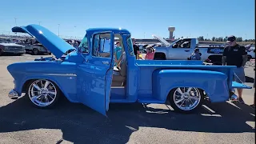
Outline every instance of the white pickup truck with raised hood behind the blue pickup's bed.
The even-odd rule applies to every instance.
[[[186,60],[194,52],[195,48],[200,50],[202,60],[209,58],[212,62],[222,62],[224,45],[199,46],[197,38],[181,38],[171,44],[164,38],[155,36],[162,46],[155,47],[155,60]]]

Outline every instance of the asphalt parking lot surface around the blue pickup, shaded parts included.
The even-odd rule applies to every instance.
[[[110,104],[108,117],[62,98],[51,110],[11,100],[13,78],[6,66],[41,56],[0,56],[0,143],[255,143],[254,89],[246,104],[205,102],[195,114],[177,114],[170,106]],[[46,56],[47,57],[47,56]],[[253,86],[253,67],[246,84]]]

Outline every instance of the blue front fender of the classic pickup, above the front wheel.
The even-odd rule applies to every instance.
[[[77,101],[76,64],[72,62],[18,62],[7,66],[14,78],[14,90],[22,94],[22,88],[31,79],[48,79],[54,82],[71,102]]]

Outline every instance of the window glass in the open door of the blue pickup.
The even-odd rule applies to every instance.
[[[93,42],[93,55],[95,57],[110,58],[110,34],[96,34]]]

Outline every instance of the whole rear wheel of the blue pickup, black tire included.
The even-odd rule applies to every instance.
[[[195,87],[178,87],[170,90],[169,101],[174,111],[190,114],[202,106],[202,90]]]

